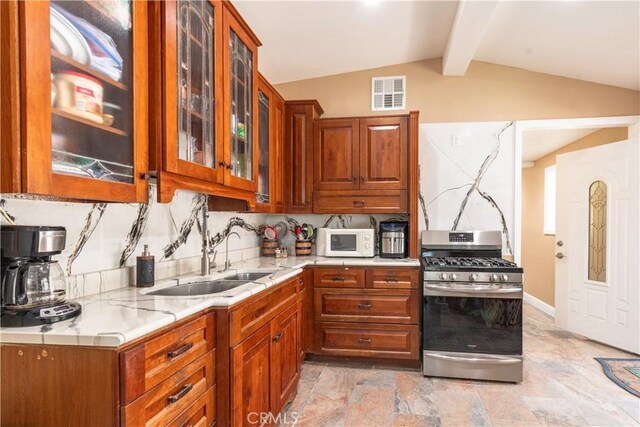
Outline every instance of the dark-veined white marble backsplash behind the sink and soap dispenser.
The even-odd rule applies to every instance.
[[[149,204],[70,203],[32,200],[3,195],[3,209],[23,225],[61,225],[67,229],[65,250],[54,257],[69,278],[72,297],[133,284],[136,255],[144,245],[156,257],[156,279],[198,271],[201,254],[201,216],[204,197],[178,191],[171,203],[155,201],[152,186]],[[229,228],[232,261],[259,256],[260,239],[255,231],[264,214],[210,212],[208,226],[224,263],[222,243]],[[7,221],[3,218],[2,224]],[[86,288],[84,291],[78,288]],[[95,292],[94,292],[95,291]],[[88,293],[87,293],[88,292]]]

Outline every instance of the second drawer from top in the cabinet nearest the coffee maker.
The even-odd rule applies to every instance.
[[[210,351],[122,408],[126,426],[167,425],[215,382],[215,352]]]

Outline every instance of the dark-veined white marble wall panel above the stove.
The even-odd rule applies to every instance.
[[[501,230],[511,255],[513,122],[420,125],[420,230]]]

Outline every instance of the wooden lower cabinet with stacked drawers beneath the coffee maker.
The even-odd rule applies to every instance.
[[[216,328],[205,312],[121,348],[2,344],[1,423],[212,425]]]

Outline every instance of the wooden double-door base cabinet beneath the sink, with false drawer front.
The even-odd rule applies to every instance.
[[[301,286],[295,277],[229,311],[231,425],[262,425],[260,414],[277,416],[295,396]]]

